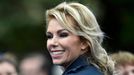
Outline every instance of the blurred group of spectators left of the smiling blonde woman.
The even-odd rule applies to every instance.
[[[15,54],[0,54],[0,75],[60,75],[60,66],[53,65],[41,52],[32,52],[19,59]]]

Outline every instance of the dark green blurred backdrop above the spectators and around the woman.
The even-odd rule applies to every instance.
[[[64,0],[0,0],[0,52],[47,54],[45,11]],[[66,0],[87,5],[105,32],[108,52],[134,53],[134,0]]]

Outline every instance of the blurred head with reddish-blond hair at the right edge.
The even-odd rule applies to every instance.
[[[115,71],[119,75],[134,75],[134,54],[127,51],[120,51],[111,54],[115,61]]]

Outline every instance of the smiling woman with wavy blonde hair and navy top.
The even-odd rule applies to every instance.
[[[110,75],[113,61],[101,46],[103,32],[95,16],[80,3],[63,2],[46,11],[47,48],[63,75]]]

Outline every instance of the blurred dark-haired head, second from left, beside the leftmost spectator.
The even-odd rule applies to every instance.
[[[51,62],[42,53],[29,53],[20,62],[19,70],[21,75],[50,75]]]

